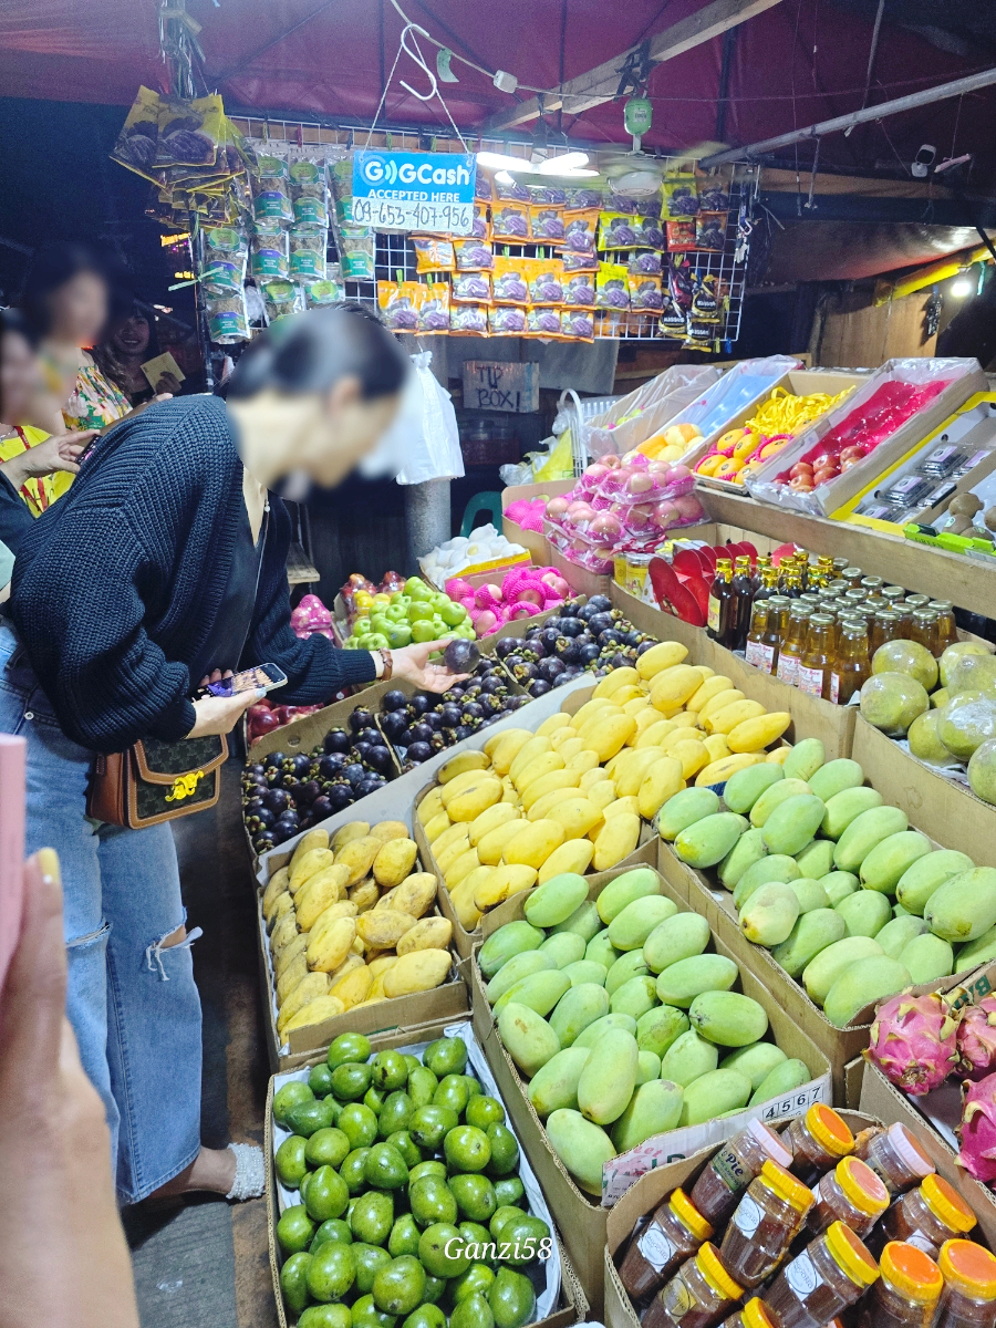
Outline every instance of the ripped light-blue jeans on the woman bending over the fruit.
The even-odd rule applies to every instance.
[[[201,999],[169,825],[125,830],[86,817],[93,753],[58,726],[9,623],[0,619],[0,733],[28,740],[28,853],[58,853],[68,1015],[108,1113],[121,1204],[201,1149]]]

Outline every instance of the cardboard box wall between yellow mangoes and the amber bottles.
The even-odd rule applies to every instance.
[[[795,687],[789,687],[788,683],[781,683],[770,673],[762,673],[740,655],[714,641],[704,627],[692,627],[672,614],[644,604],[619,586],[612,586],[610,598],[633,627],[651,632],[661,641],[681,641],[687,645],[689,663],[706,664],[714,673],[729,677],[733,687],[749,700],[760,701],[766,710],[788,710],[791,714],[791,724],[785,732],[786,742],[819,738],[827,761],[851,754],[857,713],[854,706],[833,705],[818,696],[810,696]]]

